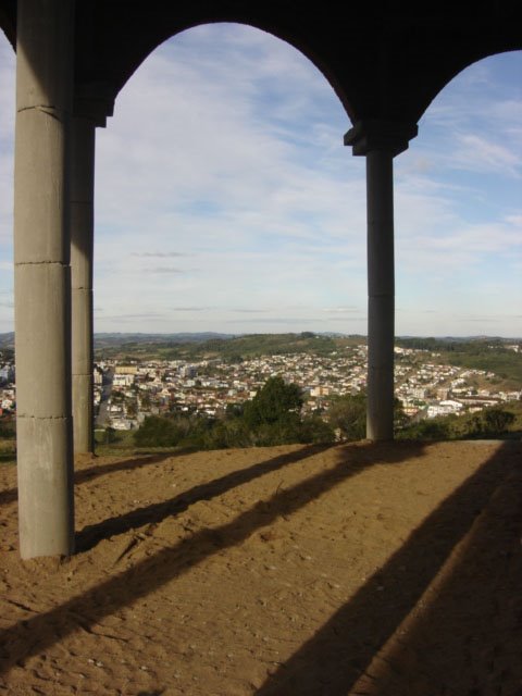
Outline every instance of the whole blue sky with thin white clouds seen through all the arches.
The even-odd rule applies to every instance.
[[[296,49],[159,47],[97,129],[95,331],[366,333],[365,163]],[[0,37],[0,332],[13,330],[14,55]],[[522,51],[432,102],[395,159],[396,333],[522,337]]]

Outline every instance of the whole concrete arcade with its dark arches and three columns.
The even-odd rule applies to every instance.
[[[0,0],[0,26],[18,50],[15,330],[24,558],[73,549],[72,382],[76,448],[92,447],[94,127],[112,113],[119,91],[145,58],[189,27],[238,22],[291,44],[336,91],[353,125],[345,142],[366,158],[368,435],[387,439],[393,437],[394,396],[393,158],[408,147],[419,119],[458,72],[492,53],[522,48],[517,10],[510,0],[477,5],[472,14],[467,8],[449,13],[433,3],[411,9],[374,1],[350,5],[345,18],[331,0],[299,5],[298,12],[295,3],[259,0]]]

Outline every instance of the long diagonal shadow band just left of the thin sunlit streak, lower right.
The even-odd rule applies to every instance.
[[[507,463],[510,452],[513,452],[512,464]],[[351,688],[364,674],[372,658],[415,607],[455,546],[470,530],[502,477],[510,471],[510,467],[512,469],[515,464],[517,452],[520,456],[520,446],[518,449],[510,449],[509,444],[506,444],[446,498],[412,532],[407,543],[388,562],[290,659],[269,676],[257,696],[347,696],[352,693]],[[492,543],[492,539],[488,538],[487,542]],[[482,576],[478,582],[487,585],[488,579]],[[488,616],[483,617],[486,622],[488,619]],[[462,668],[461,663],[460,669]],[[374,679],[368,674],[365,676],[370,682]],[[386,694],[482,694],[469,691],[431,691],[430,684],[427,691],[410,692],[408,685],[408,679],[405,679],[401,688],[397,691],[396,684],[395,691]],[[357,693],[382,696],[385,692],[373,684],[373,691],[366,685],[364,691]]]

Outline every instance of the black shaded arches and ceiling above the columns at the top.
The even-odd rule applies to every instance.
[[[237,22],[288,41],[325,75],[352,123],[415,124],[440,89],[471,63],[522,49],[518,2],[477,2],[473,13],[440,2],[414,9],[381,0],[306,7],[297,0],[77,0],[77,94],[111,112],[117,92],[160,44],[200,24]],[[14,0],[0,25],[15,42]]]

